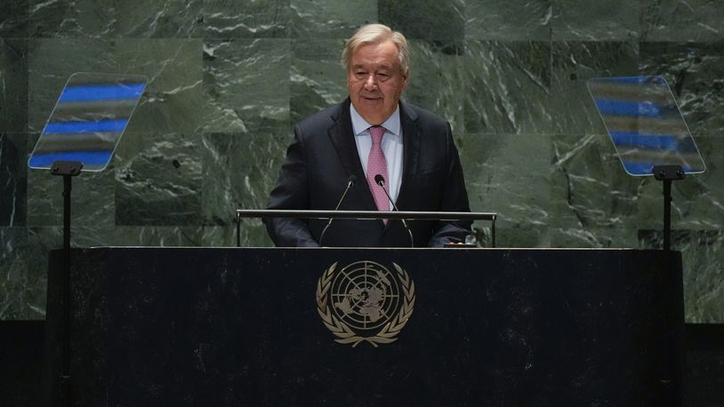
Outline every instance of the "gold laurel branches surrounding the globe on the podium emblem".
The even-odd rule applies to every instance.
[[[402,282],[402,290],[405,292],[405,300],[403,301],[402,307],[400,307],[398,315],[395,315],[390,322],[385,323],[382,330],[377,332],[374,336],[363,337],[359,336],[355,331],[350,329],[346,323],[342,322],[339,318],[332,314],[332,310],[327,303],[327,293],[330,286],[332,285],[332,277],[334,276],[334,269],[337,267],[335,262],[332,266],[326,269],[325,273],[319,277],[317,282],[317,311],[319,316],[322,317],[325,326],[329,331],[334,333],[339,339],[334,339],[336,342],[343,344],[352,344],[352,347],[356,347],[360,342],[366,341],[371,343],[374,347],[378,347],[380,343],[391,343],[397,340],[395,338],[402,328],[405,328],[407,320],[413,315],[414,310],[414,282],[410,280],[410,276],[402,267],[399,267],[397,263],[392,263],[392,266],[398,272],[398,277]]]

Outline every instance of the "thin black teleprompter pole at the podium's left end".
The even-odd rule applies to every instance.
[[[70,191],[71,177],[80,174],[83,163],[76,161],[56,161],[51,166],[52,175],[63,177],[63,334],[60,355],[60,406],[72,405],[70,398]]]

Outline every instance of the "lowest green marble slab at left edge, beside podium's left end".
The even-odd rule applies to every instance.
[[[44,319],[47,247],[26,227],[0,227],[0,320]]]

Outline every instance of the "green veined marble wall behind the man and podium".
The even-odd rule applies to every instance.
[[[74,180],[74,244],[231,246],[294,122],[345,97],[343,40],[380,21],[411,40],[405,98],[450,120],[499,246],[661,244],[661,184],[623,172],[584,82],[665,76],[708,165],[673,186],[687,320],[724,323],[721,20],[719,0],[4,0],[0,319],[44,318],[62,182],[26,162],[71,73],[150,78],[109,169]],[[259,221],[243,240],[270,245]]]

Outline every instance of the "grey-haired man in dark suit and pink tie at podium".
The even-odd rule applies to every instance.
[[[409,83],[405,36],[382,24],[359,28],[342,64],[349,98],[294,128],[269,209],[470,211],[463,169],[446,120],[401,102]],[[379,177],[378,177],[379,180]],[[278,246],[441,247],[463,241],[471,222],[264,219]],[[322,240],[320,242],[320,240]]]

